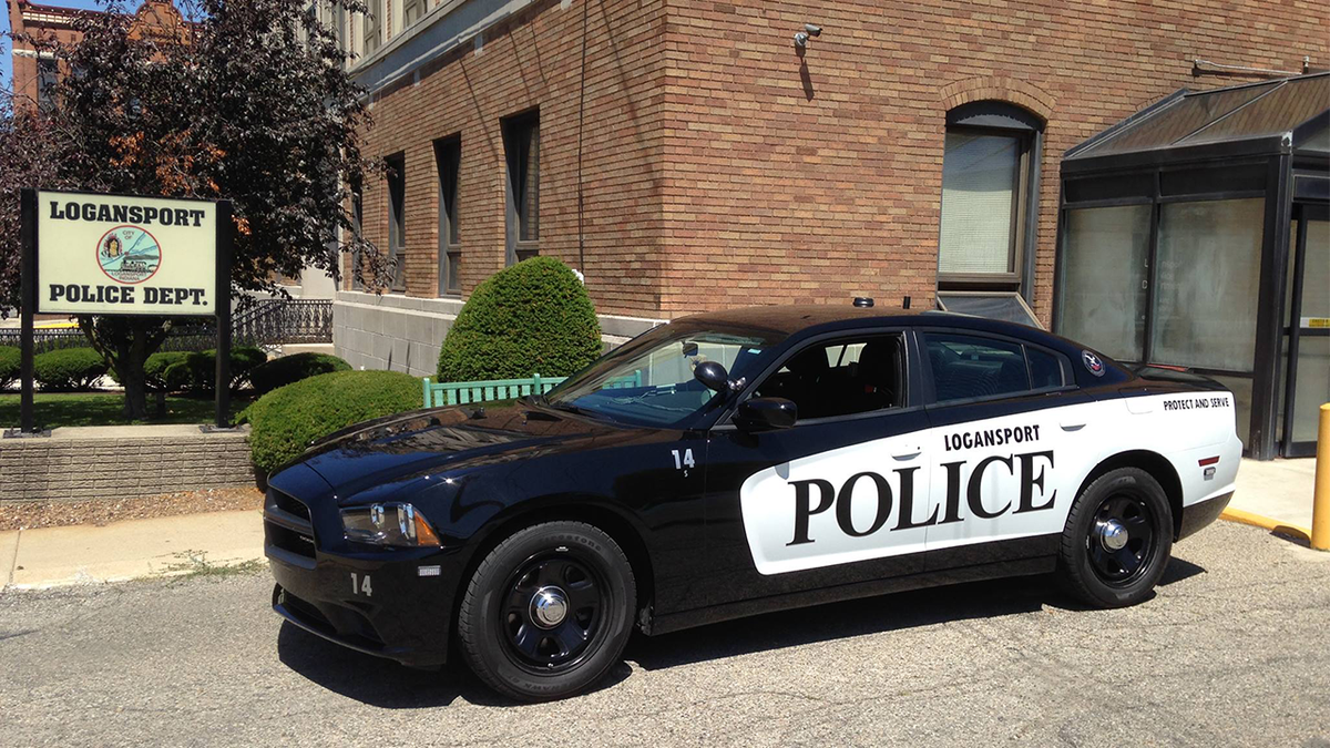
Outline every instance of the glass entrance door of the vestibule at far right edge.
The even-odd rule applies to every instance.
[[[1321,405],[1330,402],[1330,206],[1295,204],[1293,220],[1281,453],[1311,457]]]

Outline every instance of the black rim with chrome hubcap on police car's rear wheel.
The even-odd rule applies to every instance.
[[[1150,566],[1156,535],[1154,512],[1140,496],[1104,499],[1085,538],[1091,568],[1109,587],[1133,584]]]

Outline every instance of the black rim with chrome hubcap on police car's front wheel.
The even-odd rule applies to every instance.
[[[553,675],[585,657],[606,610],[606,584],[595,567],[564,548],[539,554],[517,568],[507,591],[499,623],[517,665]],[[541,610],[541,599],[564,602],[557,622],[551,620],[551,606]]]

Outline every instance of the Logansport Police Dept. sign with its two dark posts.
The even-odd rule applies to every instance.
[[[21,217],[21,433],[36,431],[35,314],[214,317],[215,422],[227,427],[230,202],[24,189]]]

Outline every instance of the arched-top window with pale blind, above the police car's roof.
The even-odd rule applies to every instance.
[[[1003,101],[947,112],[939,290],[1020,293],[1028,286],[1043,128],[1039,117]]]

